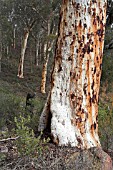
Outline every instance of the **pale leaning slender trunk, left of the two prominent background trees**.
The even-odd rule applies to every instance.
[[[19,66],[18,66],[18,77],[19,78],[24,78],[23,76],[23,66],[24,66],[24,56],[25,56],[25,51],[27,47],[27,41],[29,37],[29,31],[26,31],[24,34],[23,42],[22,42],[22,47],[21,47],[21,56],[20,56],[20,61],[19,61]]]

